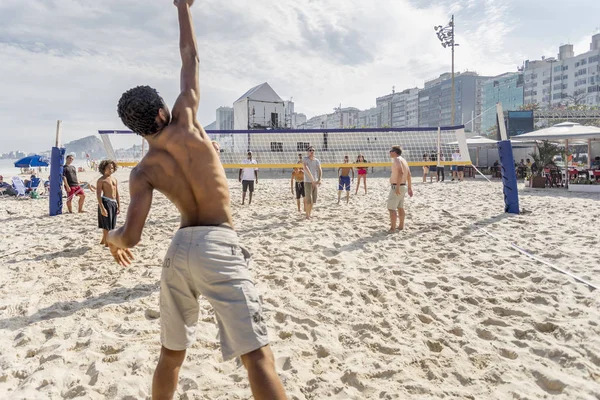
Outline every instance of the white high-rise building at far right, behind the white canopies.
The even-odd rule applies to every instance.
[[[575,56],[572,44],[559,48],[558,58],[525,61],[524,103],[541,108],[600,105],[600,34],[590,50]]]

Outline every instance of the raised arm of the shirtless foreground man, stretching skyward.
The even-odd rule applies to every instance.
[[[179,18],[179,51],[181,53],[181,94],[173,107],[173,118],[191,122],[196,118],[200,102],[198,83],[198,46],[190,6],[194,0],[175,0]]]

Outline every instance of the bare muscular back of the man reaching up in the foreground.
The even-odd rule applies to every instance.
[[[177,207],[181,228],[228,224],[233,227],[229,188],[218,154],[204,129],[173,121],[156,137],[134,168],[130,185],[156,189]]]

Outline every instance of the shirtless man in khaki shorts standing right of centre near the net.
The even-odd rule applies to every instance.
[[[390,193],[388,195],[388,211],[390,212],[391,227],[388,233],[396,231],[396,210],[398,210],[398,230],[404,229],[404,196],[406,193],[412,197],[412,176],[408,163],[401,156],[402,149],[400,146],[393,146],[390,150],[390,158],[392,159],[392,176],[390,177]],[[408,186],[407,186],[408,185]]]

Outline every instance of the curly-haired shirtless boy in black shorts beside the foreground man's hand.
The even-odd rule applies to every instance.
[[[108,247],[106,238],[108,232],[115,229],[117,215],[121,212],[121,200],[119,199],[119,186],[117,179],[112,176],[117,170],[117,163],[113,160],[100,162],[98,171],[102,174],[96,183],[96,197],[98,198],[98,228],[102,229],[102,241]]]

